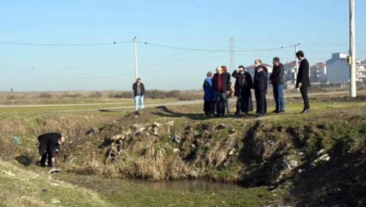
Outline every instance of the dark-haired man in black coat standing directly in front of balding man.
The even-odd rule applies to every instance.
[[[267,93],[268,74],[263,66],[257,67],[257,78],[254,81],[254,92],[257,100],[258,117],[265,115],[265,101]]]

